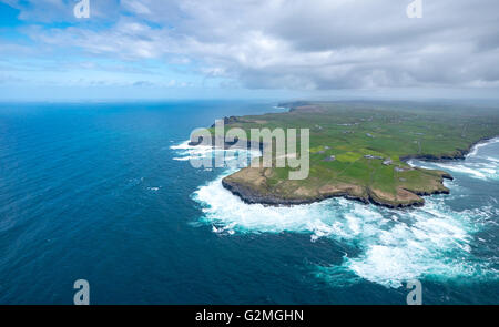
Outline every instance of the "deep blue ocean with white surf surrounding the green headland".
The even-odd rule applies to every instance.
[[[499,304],[499,140],[445,170],[450,195],[394,211],[247,205],[192,130],[265,102],[0,105],[0,304]],[[213,155],[211,152],[201,155]]]

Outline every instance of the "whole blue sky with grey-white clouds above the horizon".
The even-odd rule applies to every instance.
[[[0,0],[0,101],[499,98],[497,0],[88,1]]]

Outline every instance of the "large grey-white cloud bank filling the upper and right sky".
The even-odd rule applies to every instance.
[[[7,3],[33,22],[64,21],[73,6],[62,0]],[[204,78],[227,79],[224,88],[498,86],[497,0],[424,0],[421,19],[407,18],[409,3],[102,0],[91,1],[95,17],[89,22],[68,17],[71,25],[33,24],[24,32],[37,47],[54,51],[73,49],[124,63],[186,64]]]

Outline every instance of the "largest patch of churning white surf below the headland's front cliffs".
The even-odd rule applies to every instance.
[[[469,243],[476,232],[469,222],[477,212],[454,212],[442,200],[429,200],[422,208],[404,213],[344,198],[293,207],[245,204],[225,190],[222,177],[200,187],[194,200],[202,203],[203,221],[234,233],[309,234],[310,241],[332,238],[358,246],[361,254],[345,257],[343,267],[358,277],[399,287],[421,276],[467,277],[485,269],[470,265]],[[483,213],[482,213],[483,214]],[[406,223],[407,219],[410,223]],[[221,232],[222,231],[222,232]]]

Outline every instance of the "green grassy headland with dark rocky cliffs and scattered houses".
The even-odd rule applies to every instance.
[[[462,160],[475,144],[499,135],[493,108],[310,101],[279,106],[289,111],[225,117],[225,127],[309,129],[309,176],[292,181],[289,167],[273,166],[245,167],[223,178],[246,203],[293,205],[344,196],[394,208],[421,206],[424,195],[448,194],[442,182],[452,176],[413,167],[408,160]]]

